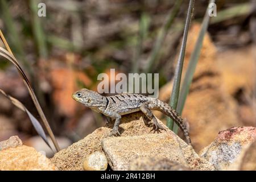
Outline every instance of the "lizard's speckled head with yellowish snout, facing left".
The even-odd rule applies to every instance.
[[[73,93],[72,98],[87,107],[105,106],[106,98],[88,89],[81,89]]]

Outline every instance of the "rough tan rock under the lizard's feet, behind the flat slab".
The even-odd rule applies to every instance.
[[[147,118],[143,113],[137,112],[133,114],[124,115],[119,125],[119,131],[122,137],[127,136],[139,136],[145,134],[153,134],[152,127],[146,126],[144,122]],[[166,129],[162,133],[166,133],[169,129],[163,125],[161,121],[159,123]],[[100,127],[92,134],[89,134],[79,142],[73,143],[68,148],[57,152],[51,161],[60,170],[83,170],[83,162],[85,158],[96,151],[102,151],[101,140],[109,137],[109,133],[113,128],[113,123]],[[186,144],[183,142],[183,146]]]

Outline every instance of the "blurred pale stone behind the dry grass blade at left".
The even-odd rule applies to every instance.
[[[52,148],[55,148],[52,140],[49,137],[47,138],[50,146]],[[60,149],[67,148],[72,144],[71,140],[65,137],[56,137],[56,140],[60,146]],[[54,155],[54,152],[51,150],[51,148],[47,146],[46,142],[44,142],[44,140],[40,136],[31,137],[28,140],[25,140],[24,144],[35,148],[36,151],[44,152],[48,158],[51,158]]]

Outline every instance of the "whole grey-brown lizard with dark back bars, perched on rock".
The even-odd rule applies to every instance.
[[[142,111],[150,120],[148,124],[153,125],[155,130],[165,130],[159,125],[155,115],[151,110],[159,110],[171,119],[180,127],[188,144],[191,144],[191,139],[188,134],[187,125],[179,114],[172,109],[166,102],[156,98],[143,96],[141,94],[117,94],[114,96],[104,97],[101,94],[89,89],[81,89],[72,94],[72,98],[81,104],[89,107],[97,113],[102,113],[110,117],[114,122],[114,127],[110,132],[110,136],[121,135],[118,131],[119,123],[122,115]]]

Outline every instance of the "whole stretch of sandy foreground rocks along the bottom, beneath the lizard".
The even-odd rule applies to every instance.
[[[108,165],[113,170],[256,169],[255,127],[221,131],[197,154],[166,126],[166,131],[154,133],[144,119],[140,112],[126,115],[122,137],[108,137],[113,126],[106,125],[51,159],[11,137],[0,143],[0,170],[106,170]]]

